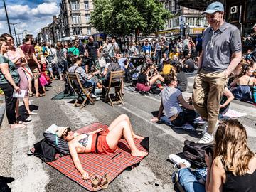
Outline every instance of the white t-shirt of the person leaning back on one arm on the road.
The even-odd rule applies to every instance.
[[[181,91],[174,88],[166,86],[164,90],[161,91],[161,102],[164,106],[164,114],[166,117],[170,118],[180,112],[182,112],[179,106],[178,96],[181,95]]]

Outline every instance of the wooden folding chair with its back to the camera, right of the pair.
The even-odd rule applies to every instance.
[[[110,81],[108,83],[108,86],[105,86],[106,95],[105,95],[105,102],[108,100],[110,101],[110,104],[112,107],[117,104],[124,105],[123,97],[122,97],[122,84],[124,83],[124,71],[118,70],[118,71],[111,71],[110,72]],[[110,96],[110,89],[114,88],[115,90],[115,100],[113,100]]]

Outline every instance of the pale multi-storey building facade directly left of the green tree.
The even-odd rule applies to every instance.
[[[96,33],[90,26],[90,15],[93,11],[92,0],[60,0],[58,16],[58,36],[60,41],[68,41],[78,36],[87,38]]]

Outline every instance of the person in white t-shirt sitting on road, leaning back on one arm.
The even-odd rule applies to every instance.
[[[177,87],[177,78],[173,74],[166,75],[164,78],[166,87],[161,90],[161,104],[159,107],[158,117],[151,119],[151,122],[158,122],[162,112],[177,127],[183,124],[192,124],[196,117],[193,105],[189,105],[183,98],[182,93]],[[180,107],[180,103],[183,108]]]

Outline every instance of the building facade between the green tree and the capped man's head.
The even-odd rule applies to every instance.
[[[156,32],[156,35],[170,38],[178,38],[186,34],[198,36],[207,27],[206,18],[201,15],[201,11],[180,6],[176,0],[161,0],[161,3],[174,16],[166,23],[166,28]]]

